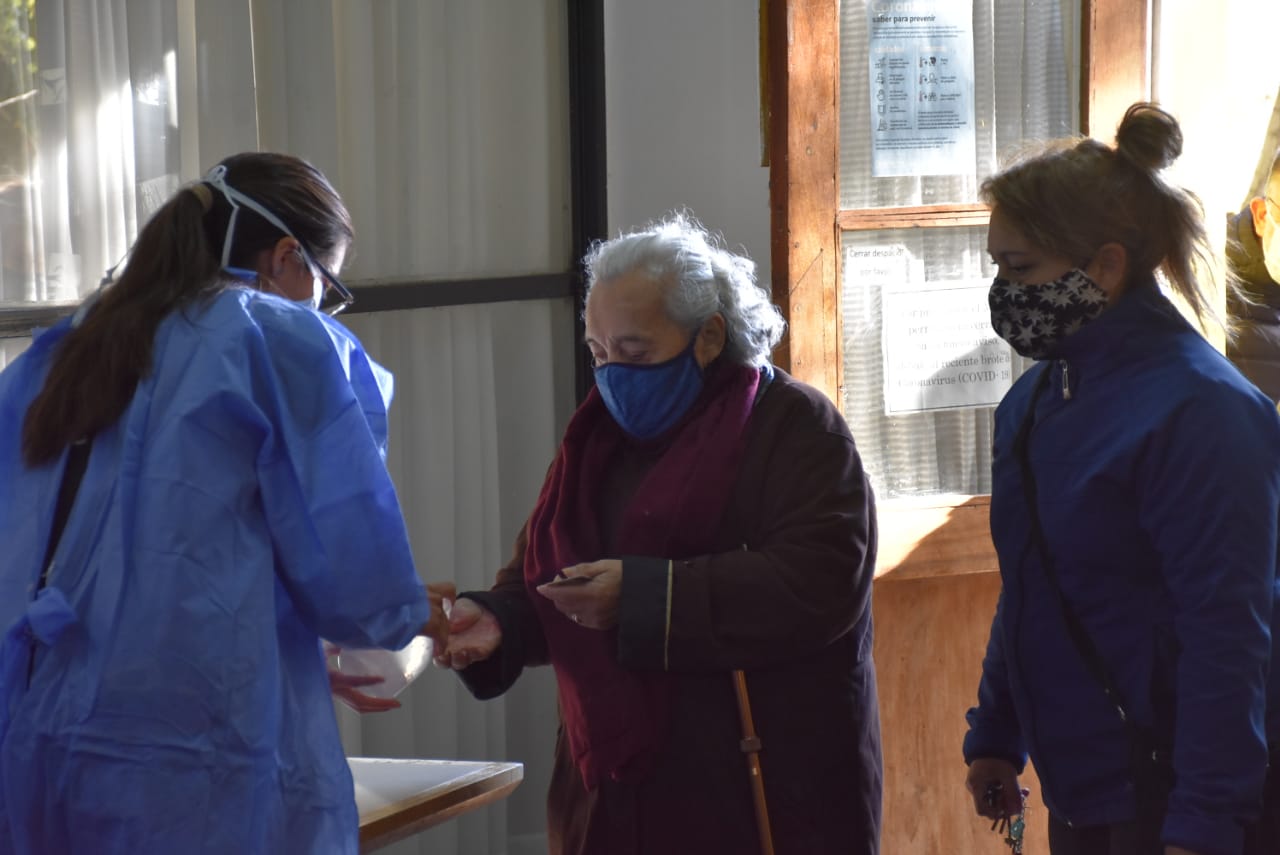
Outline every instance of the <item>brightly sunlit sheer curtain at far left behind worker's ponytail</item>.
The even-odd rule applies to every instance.
[[[202,156],[256,147],[248,0],[210,5],[0,4],[0,320],[78,301]]]

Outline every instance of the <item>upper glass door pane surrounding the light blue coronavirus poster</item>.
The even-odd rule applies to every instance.
[[[960,0],[937,0],[959,3]],[[1076,127],[1064,6],[1079,0],[973,0],[975,163],[960,175],[872,177],[868,0],[840,10],[840,207],[973,204],[997,160],[1024,140]],[[1074,63],[1074,59],[1073,59]]]

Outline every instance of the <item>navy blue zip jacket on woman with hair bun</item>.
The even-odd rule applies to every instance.
[[[1153,283],[1056,356],[996,411],[991,532],[1004,587],[965,759],[1020,768],[1029,754],[1050,811],[1074,826],[1134,818],[1130,736],[1068,637],[1014,451],[1050,371],[1029,459],[1062,589],[1132,713],[1172,741],[1165,842],[1238,855],[1268,736],[1280,736],[1280,704],[1267,715],[1280,417]]]

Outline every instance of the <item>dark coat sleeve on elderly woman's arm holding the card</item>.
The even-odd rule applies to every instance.
[[[786,406],[777,429],[748,444],[758,457],[744,470],[760,480],[735,486],[750,506],[742,544],[680,561],[623,559],[622,664],[718,671],[791,662],[840,639],[870,608],[876,511],[854,440],[826,399]]]

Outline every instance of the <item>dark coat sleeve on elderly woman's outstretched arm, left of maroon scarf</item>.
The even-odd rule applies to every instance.
[[[493,587],[458,595],[492,612],[502,631],[502,644],[492,657],[458,672],[462,685],[480,700],[497,698],[511,689],[526,666],[543,666],[549,660],[543,625],[525,587],[527,531],[526,523],[516,538],[511,562],[498,571]]]

